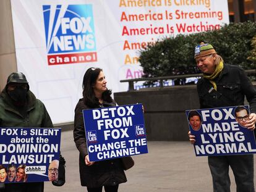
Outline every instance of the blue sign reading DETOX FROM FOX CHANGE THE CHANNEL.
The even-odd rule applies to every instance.
[[[83,110],[90,161],[148,152],[142,104]]]

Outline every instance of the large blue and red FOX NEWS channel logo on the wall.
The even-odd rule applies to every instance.
[[[96,62],[91,4],[43,6],[48,65]]]

